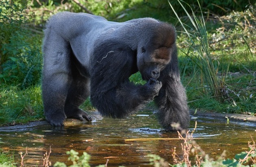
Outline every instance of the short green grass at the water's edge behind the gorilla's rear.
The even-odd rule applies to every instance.
[[[23,124],[43,119],[40,86],[22,90],[19,86],[1,85],[0,125]]]

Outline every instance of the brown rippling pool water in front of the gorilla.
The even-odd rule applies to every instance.
[[[143,115],[142,115],[143,114]],[[207,118],[191,119],[191,129],[197,121],[193,137],[200,137],[197,143],[210,157],[216,158],[226,150],[226,158],[248,149],[251,136],[256,141],[255,124],[225,124]],[[171,150],[177,147],[181,154],[180,140],[124,141],[135,138],[177,138],[177,132],[163,131],[155,115],[144,111],[124,120],[103,118],[88,124],[52,128],[49,125],[33,126],[10,130],[0,129],[0,148],[14,154],[20,163],[18,152],[28,147],[24,162],[27,166],[42,165],[43,154],[52,148],[50,161],[67,163],[66,151],[74,149],[82,154],[91,155],[91,166],[105,164],[108,166],[125,165],[148,166],[148,154],[158,154],[169,163],[172,162]],[[88,141],[88,139],[93,139]],[[87,141],[86,141],[87,140]]]

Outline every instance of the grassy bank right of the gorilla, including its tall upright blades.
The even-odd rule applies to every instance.
[[[236,34],[235,39],[239,37],[237,40],[243,43],[233,42],[229,38],[215,44],[216,41],[209,40],[209,36],[213,36],[215,32],[211,34],[207,31],[200,3],[198,2],[198,16],[192,9],[188,12],[180,0],[178,2],[189,18],[189,22],[184,23],[170,4],[183,28],[183,34],[178,39],[178,43],[185,41],[180,49],[183,55],[180,69],[190,107],[225,113],[256,113],[256,100],[253,97],[256,90],[256,61],[252,54],[255,46],[248,44],[255,37],[249,36],[245,39],[241,28],[234,27],[239,31],[233,31]],[[244,34],[248,32],[250,30],[243,31]],[[230,42],[234,47],[230,51],[218,46],[228,46]],[[188,77],[186,73],[192,77]]]

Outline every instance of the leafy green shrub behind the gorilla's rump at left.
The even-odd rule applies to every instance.
[[[0,1],[0,82],[35,84],[41,71],[41,41],[28,27],[26,0]]]

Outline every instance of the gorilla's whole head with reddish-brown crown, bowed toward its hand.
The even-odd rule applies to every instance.
[[[157,79],[161,71],[171,61],[171,55],[176,47],[175,28],[170,24],[160,22],[145,40],[137,48],[137,67],[142,79]]]

